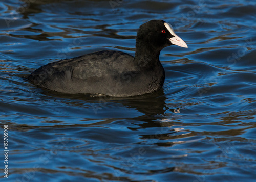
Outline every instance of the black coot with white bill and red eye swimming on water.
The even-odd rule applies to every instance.
[[[159,55],[170,45],[187,47],[172,25],[151,20],[138,30],[135,57],[121,51],[97,51],[41,66],[27,78],[39,87],[71,94],[127,97],[151,93],[163,86],[165,72]]]

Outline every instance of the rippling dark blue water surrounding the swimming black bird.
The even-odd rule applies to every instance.
[[[1,181],[255,181],[255,1],[5,0],[0,15]],[[97,50],[134,55],[151,19],[188,45],[161,51],[159,92],[90,98],[22,79]]]

